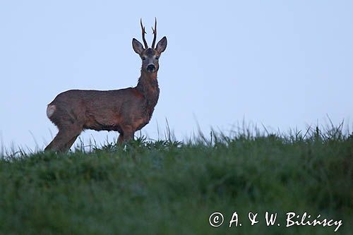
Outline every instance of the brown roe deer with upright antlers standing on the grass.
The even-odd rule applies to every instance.
[[[145,27],[140,20],[145,47],[135,38],[133,50],[142,59],[141,75],[135,88],[120,90],[68,90],[48,104],[47,116],[59,128],[54,140],[45,148],[66,152],[85,129],[118,131],[118,143],[131,140],[151,119],[160,95],[157,83],[158,59],[167,47],[167,37],[155,46],[157,20],[152,47],[145,40]]]

